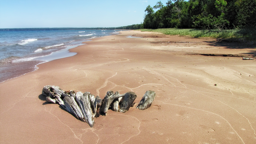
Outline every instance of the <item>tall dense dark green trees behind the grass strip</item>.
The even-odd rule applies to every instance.
[[[256,28],[256,0],[168,0],[145,12],[143,28]]]

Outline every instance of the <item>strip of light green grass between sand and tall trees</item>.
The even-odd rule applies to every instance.
[[[228,30],[203,30],[203,29],[180,29],[180,28],[159,28],[159,29],[138,29],[140,31],[152,31],[166,35],[179,35],[191,37],[212,37],[230,40],[248,40],[256,42],[255,29],[228,29]]]

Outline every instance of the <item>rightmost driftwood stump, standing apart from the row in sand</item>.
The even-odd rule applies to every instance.
[[[154,91],[147,91],[142,99],[140,100],[139,104],[136,108],[139,108],[140,110],[145,110],[149,108],[153,102],[153,100],[156,97],[156,93]]]

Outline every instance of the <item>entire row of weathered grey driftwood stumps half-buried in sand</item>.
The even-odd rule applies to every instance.
[[[60,87],[51,85],[44,86],[42,93],[48,102],[58,103],[77,119],[88,123],[90,127],[94,125],[94,117],[107,115],[109,107],[113,111],[125,113],[133,107],[137,97],[134,92],[119,94],[119,92],[108,91],[102,100],[99,96],[95,98],[90,92],[63,91]],[[155,96],[154,91],[147,91],[137,108],[143,110],[149,108]]]

